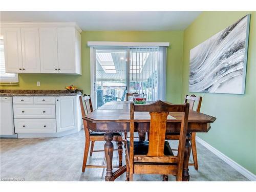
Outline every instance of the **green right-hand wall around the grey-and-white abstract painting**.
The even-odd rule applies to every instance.
[[[250,12],[203,12],[184,31],[182,96],[188,92],[189,51]],[[195,93],[201,112],[217,117],[201,139],[256,174],[256,12],[251,12],[245,95]],[[183,99],[183,97],[182,97]]]

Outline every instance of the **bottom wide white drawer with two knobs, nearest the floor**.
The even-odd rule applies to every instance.
[[[15,133],[55,133],[55,119],[14,119]]]

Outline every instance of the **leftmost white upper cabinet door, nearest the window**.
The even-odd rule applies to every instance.
[[[20,28],[2,28],[6,73],[22,73],[22,40]]]

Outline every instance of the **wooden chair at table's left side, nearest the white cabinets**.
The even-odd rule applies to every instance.
[[[93,111],[93,106],[92,106],[92,101],[90,95],[84,95],[79,97],[80,100],[80,107],[81,107],[81,113],[82,117],[88,115]],[[95,141],[104,141],[104,133],[97,133],[90,131],[87,127],[87,121],[83,120],[83,126],[84,126],[84,133],[86,135],[86,144],[84,146],[84,154],[83,154],[83,163],[82,163],[82,172],[86,170],[86,167],[103,167],[105,168],[106,166],[104,163],[102,165],[87,165],[87,158],[88,158],[88,153],[89,153],[89,147],[90,147],[90,142],[91,142],[91,150],[90,150],[90,156],[92,156],[93,152],[103,152],[104,150],[97,150],[94,151],[94,142]],[[119,156],[119,166],[122,166],[122,135],[120,133],[114,133],[114,139],[113,141],[117,141],[117,151],[118,151],[118,156]],[[103,161],[104,162],[104,161]],[[116,166],[113,166],[116,167]]]

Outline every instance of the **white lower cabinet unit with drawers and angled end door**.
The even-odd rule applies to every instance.
[[[77,111],[79,110],[78,97],[13,97],[15,133],[58,134],[70,130],[79,131],[81,114]]]

